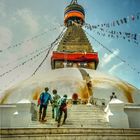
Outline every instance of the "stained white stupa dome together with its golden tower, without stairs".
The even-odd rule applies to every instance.
[[[64,11],[64,25],[67,27],[56,51],[50,58],[51,71],[34,75],[32,78],[7,89],[2,93],[0,103],[17,103],[28,99],[37,100],[40,92],[48,86],[71,98],[77,93],[85,102],[92,96],[107,104],[112,92],[126,103],[139,103],[140,90],[108,74],[98,72],[98,53],[94,51],[82,26],[85,22],[84,8],[72,0]]]

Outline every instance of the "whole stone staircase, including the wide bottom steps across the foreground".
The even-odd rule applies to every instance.
[[[0,130],[1,140],[140,140],[140,129],[114,129],[108,124],[102,107],[88,105],[68,106],[65,125],[57,128],[51,118],[51,106],[47,122],[32,121],[28,128]],[[23,120],[24,121],[24,120]]]

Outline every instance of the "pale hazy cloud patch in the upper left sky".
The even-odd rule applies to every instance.
[[[17,15],[23,20],[23,23],[28,27],[31,33],[37,33],[39,30],[39,24],[32,11],[29,9],[20,9],[17,11]]]

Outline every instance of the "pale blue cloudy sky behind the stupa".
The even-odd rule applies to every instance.
[[[31,77],[45,57],[45,49],[64,28],[64,8],[70,2],[71,0],[0,0],[0,92]],[[110,23],[140,12],[140,0],[78,0],[78,3],[84,7],[85,20],[90,25]],[[140,89],[140,38],[137,45],[126,39],[99,35],[96,29],[83,29],[112,52],[108,52],[87,34],[93,49],[99,55],[97,70]],[[140,20],[110,29],[140,34]],[[118,56],[125,62],[119,60]],[[49,58],[37,73],[48,70]]]

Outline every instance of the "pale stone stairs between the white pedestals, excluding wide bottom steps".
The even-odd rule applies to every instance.
[[[47,110],[47,122],[40,123],[32,121],[29,127],[57,127],[57,122],[52,119],[51,106]],[[62,116],[63,119],[63,116]],[[63,128],[110,128],[109,123],[106,121],[105,113],[102,107],[87,106],[87,105],[70,105],[68,106],[68,117],[66,124],[60,127]]]

